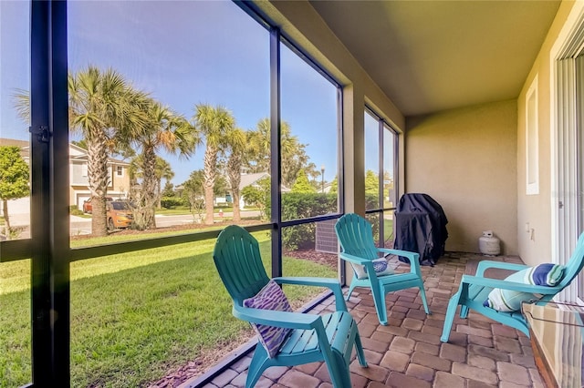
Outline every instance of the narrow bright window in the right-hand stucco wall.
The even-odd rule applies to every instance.
[[[537,76],[526,97],[526,180],[527,195],[539,193],[539,145],[537,129]]]

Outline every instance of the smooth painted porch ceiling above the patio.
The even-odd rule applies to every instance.
[[[516,98],[558,1],[310,1],[404,116]]]

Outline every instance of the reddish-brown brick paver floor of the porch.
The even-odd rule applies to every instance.
[[[350,363],[353,387],[543,387],[537,373],[528,338],[515,329],[493,322],[471,311],[466,320],[456,316],[448,343],[440,342],[446,307],[465,271],[468,260],[491,260],[472,253],[447,252],[435,266],[422,267],[431,315],[423,311],[416,289],[386,296],[389,324],[382,326],[375,313],[370,292],[357,289],[348,301],[349,311],[359,324],[368,368]],[[517,261],[499,256],[495,260]],[[519,260],[520,261],[520,260]],[[409,266],[391,260],[396,271]],[[328,298],[316,308],[334,308]],[[204,386],[244,387],[248,354]],[[293,368],[268,368],[256,387],[325,388],[330,377],[323,362]],[[195,387],[194,381],[183,388]]]

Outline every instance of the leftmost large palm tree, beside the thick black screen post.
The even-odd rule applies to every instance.
[[[107,235],[108,155],[123,139],[136,138],[146,126],[150,98],[115,70],[89,66],[68,77],[69,125],[85,138],[93,216],[92,233]]]

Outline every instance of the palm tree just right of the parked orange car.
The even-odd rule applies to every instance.
[[[137,209],[134,211],[134,220],[139,229],[156,228],[154,216],[160,200],[161,180],[157,174],[156,152],[163,148],[171,153],[178,152],[182,157],[189,157],[199,142],[193,126],[169,107],[163,107],[152,100],[147,115],[145,130],[133,139],[141,147],[141,189],[135,192]]]

